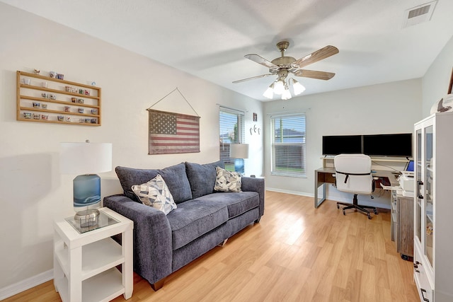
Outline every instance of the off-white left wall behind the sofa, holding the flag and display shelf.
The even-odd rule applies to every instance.
[[[111,142],[113,167],[164,168],[219,159],[217,104],[246,111],[246,129],[263,128],[257,100],[2,3],[0,37],[0,296],[1,289],[52,269],[52,221],[74,214],[76,175],[59,173],[59,142]],[[57,71],[68,81],[96,81],[102,88],[102,126],[16,121],[16,70],[34,68],[44,75]],[[146,109],[176,87],[201,117],[201,151],[149,156]],[[195,115],[177,92],[154,108]],[[251,144],[246,173],[262,175],[263,136],[246,131],[246,143]],[[103,196],[121,192],[114,172],[101,178]]]

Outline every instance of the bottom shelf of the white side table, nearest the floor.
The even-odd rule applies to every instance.
[[[66,277],[55,280],[55,286],[63,302],[69,302],[69,282]],[[122,275],[115,267],[82,282],[82,301],[110,301],[125,293]]]

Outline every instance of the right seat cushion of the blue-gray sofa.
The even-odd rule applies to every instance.
[[[207,204],[222,204],[228,209],[229,219],[256,208],[260,204],[257,192],[219,192],[198,197],[195,200]]]

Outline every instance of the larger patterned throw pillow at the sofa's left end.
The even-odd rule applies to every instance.
[[[165,214],[176,209],[173,196],[160,174],[147,183],[133,185],[132,191],[134,191],[143,204],[163,211]]]

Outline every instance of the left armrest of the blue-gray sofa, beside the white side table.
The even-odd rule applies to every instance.
[[[164,212],[123,194],[105,197],[104,207],[134,221],[134,271],[151,284],[171,274],[171,228]]]

